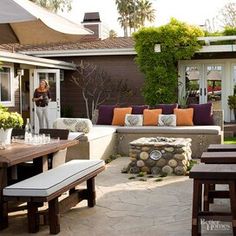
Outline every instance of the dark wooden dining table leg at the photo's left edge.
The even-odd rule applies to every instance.
[[[3,200],[3,189],[7,186],[7,168],[0,167],[0,230],[8,227],[8,203]]]

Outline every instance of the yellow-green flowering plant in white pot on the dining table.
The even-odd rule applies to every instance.
[[[12,129],[20,128],[22,125],[23,119],[19,113],[9,112],[0,105],[0,144],[10,144]]]

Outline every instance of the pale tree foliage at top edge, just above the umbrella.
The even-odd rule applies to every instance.
[[[72,0],[30,0],[30,1],[44,8],[47,8],[48,10],[55,13],[58,11],[64,11],[65,9],[67,9],[67,11],[70,11],[72,2]]]

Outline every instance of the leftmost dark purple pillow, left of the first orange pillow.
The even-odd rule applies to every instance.
[[[115,105],[99,106],[97,125],[111,125],[115,107]]]

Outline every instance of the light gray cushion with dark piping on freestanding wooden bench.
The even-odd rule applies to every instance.
[[[46,197],[103,166],[102,160],[72,160],[7,186],[3,190],[3,195]]]

